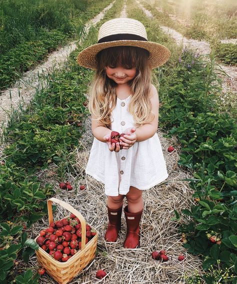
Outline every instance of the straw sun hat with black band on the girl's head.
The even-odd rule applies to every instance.
[[[83,67],[96,69],[95,55],[102,49],[112,46],[137,46],[149,51],[151,68],[164,64],[170,51],[162,44],[148,41],[144,25],[132,18],[113,18],[104,22],[98,31],[98,41],[83,49],[77,55],[77,63]]]

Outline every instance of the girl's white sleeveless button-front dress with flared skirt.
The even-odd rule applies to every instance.
[[[132,115],[127,111],[130,97],[117,97],[112,110],[111,130],[120,134],[135,126]],[[168,177],[157,133],[119,152],[110,151],[106,142],[94,137],[85,173],[104,183],[105,194],[109,196],[125,195],[130,186],[145,190]]]

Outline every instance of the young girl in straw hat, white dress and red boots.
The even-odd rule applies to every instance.
[[[151,69],[164,64],[169,56],[170,51],[148,41],[144,25],[131,18],[103,23],[97,43],[77,56],[78,64],[95,70],[88,104],[94,140],[85,173],[104,183],[105,241],[117,239],[126,196],[125,248],[140,246],[142,190],[168,177],[156,133],[158,94],[151,84]],[[125,133],[116,145],[110,143],[112,131]]]

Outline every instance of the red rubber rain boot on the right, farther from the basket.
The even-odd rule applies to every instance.
[[[124,207],[124,214],[126,219],[126,238],[124,240],[123,246],[125,248],[136,248],[140,247],[140,218],[143,212],[143,208],[135,213],[128,212],[128,206]]]

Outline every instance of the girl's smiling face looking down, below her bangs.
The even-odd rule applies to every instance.
[[[129,80],[133,79],[136,74],[136,67],[131,69],[126,69],[120,64],[115,68],[110,68],[109,66],[105,67],[106,75],[115,81],[117,84],[125,84]]]

